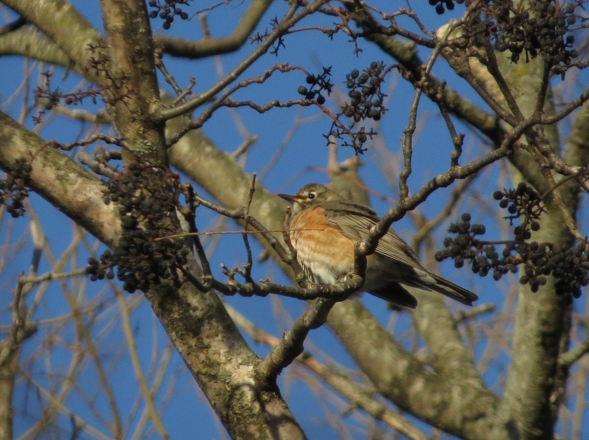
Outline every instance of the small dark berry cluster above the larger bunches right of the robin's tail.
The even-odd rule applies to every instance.
[[[544,212],[540,195],[525,182],[520,182],[517,189],[504,189],[495,191],[493,198],[499,201],[499,208],[507,208],[509,224],[513,225],[515,219],[519,219],[519,225],[515,226],[515,241],[521,242],[531,238],[531,231],[540,229],[540,215]]]

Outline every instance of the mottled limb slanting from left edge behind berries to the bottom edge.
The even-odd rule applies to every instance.
[[[104,186],[100,179],[0,113],[0,168],[10,169],[16,158],[32,156],[32,189],[101,241],[114,246],[120,236],[120,220],[114,204],[102,201]],[[192,264],[196,271],[194,261]],[[166,284],[157,286],[147,296],[199,384],[207,395],[215,396],[211,404],[234,438],[251,438],[246,431],[253,426],[266,426],[278,433],[277,438],[305,438],[276,390],[267,390],[266,382],[256,382],[257,358],[216,295],[203,294],[185,283],[179,290]],[[219,369],[211,367],[213,364]],[[262,391],[253,392],[256,389]],[[241,411],[247,412],[247,417]],[[243,426],[244,420],[251,422],[256,414],[262,425]]]

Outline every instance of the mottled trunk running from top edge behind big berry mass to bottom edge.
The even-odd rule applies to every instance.
[[[127,142],[123,161],[128,165],[137,156],[142,163],[166,168],[164,124],[154,118],[161,104],[146,5],[124,0],[102,0],[101,5],[112,80],[107,104]],[[128,152],[132,156],[125,158]],[[161,186],[157,182],[156,175],[151,184]],[[179,233],[174,214],[169,221]],[[191,256],[184,269],[200,274]],[[256,375],[259,359],[216,295],[198,291],[189,282],[178,289],[168,281],[150,288],[146,296],[232,438],[250,439],[254,433],[262,438],[305,438],[275,384]]]

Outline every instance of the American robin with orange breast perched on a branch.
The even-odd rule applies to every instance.
[[[293,204],[289,238],[307,277],[317,284],[336,284],[352,270],[354,246],[365,240],[369,229],[379,221],[376,212],[321,184],[308,184],[295,195],[279,196]],[[362,290],[415,308],[417,300],[404,286],[439,292],[466,305],[478,299],[472,292],[424,268],[413,249],[389,229],[376,251],[366,257]]]

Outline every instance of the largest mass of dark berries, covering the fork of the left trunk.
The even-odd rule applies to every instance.
[[[107,267],[117,266],[117,278],[127,292],[147,291],[163,279],[178,282],[176,268],[186,264],[188,247],[183,239],[163,238],[176,233],[178,182],[159,168],[131,164],[129,172],[109,183],[105,202],[115,202],[123,233],[113,252],[101,257],[100,265],[89,261],[88,273],[95,279]]]

